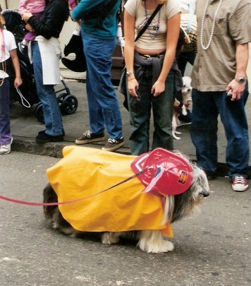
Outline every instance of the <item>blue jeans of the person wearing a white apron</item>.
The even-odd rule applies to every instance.
[[[44,124],[46,133],[51,136],[62,135],[63,122],[59,103],[56,100],[54,85],[44,85],[42,73],[42,61],[37,42],[32,42],[32,61],[35,74],[37,96],[42,102]]]

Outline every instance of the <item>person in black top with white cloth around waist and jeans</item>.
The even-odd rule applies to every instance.
[[[68,0],[49,0],[39,20],[28,12],[22,16],[27,23],[25,28],[37,33],[37,37],[32,41],[32,63],[46,127],[45,130],[39,131],[37,143],[63,141],[63,122],[54,85],[61,83],[59,35],[69,13]]]

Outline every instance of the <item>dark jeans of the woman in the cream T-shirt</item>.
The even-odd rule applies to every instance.
[[[130,112],[130,151],[132,155],[149,152],[149,126],[151,110],[154,119],[152,150],[164,148],[173,150],[172,119],[174,75],[170,71],[166,79],[164,93],[154,97],[152,89],[152,69],[145,71],[140,81],[138,99],[128,93]]]

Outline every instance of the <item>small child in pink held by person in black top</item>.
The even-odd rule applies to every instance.
[[[44,11],[44,7],[45,0],[20,0],[18,12],[21,16],[23,13],[30,12],[32,13],[32,16],[35,16],[35,18],[39,19],[42,15],[42,12]],[[18,43],[19,50],[22,54],[27,52],[27,45],[30,41],[34,40],[36,36],[37,35],[35,32],[27,32],[23,42]]]

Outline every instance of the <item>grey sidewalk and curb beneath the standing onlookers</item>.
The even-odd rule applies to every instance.
[[[66,145],[75,145],[75,139],[82,135],[83,132],[90,130],[88,120],[88,106],[87,106],[87,95],[85,88],[85,73],[74,73],[67,69],[61,68],[61,75],[64,83],[69,88],[71,95],[75,95],[78,99],[78,108],[76,112],[71,115],[63,115],[63,126],[66,133],[63,142],[59,143],[45,143],[38,144],[35,142],[35,137],[38,131],[44,129],[44,124],[39,122],[35,117],[35,108],[37,105],[33,105],[30,108],[23,107],[18,101],[13,102],[11,107],[11,132],[13,134],[13,144],[11,145],[12,150],[32,153],[37,155],[49,155],[52,157],[62,157],[62,149]],[[63,85],[56,85],[57,96],[61,93],[66,93]],[[63,90],[63,91],[62,91]],[[125,139],[125,145],[122,148],[116,150],[117,153],[130,154],[130,145],[128,138],[130,136],[130,121],[128,111],[123,107],[123,95],[118,92],[115,86],[116,95],[121,109],[121,116],[123,121],[123,137]],[[247,100],[246,105],[247,119],[249,125],[251,124],[251,100]],[[153,124],[151,122],[150,133],[153,131]],[[188,155],[191,160],[196,160],[195,148],[190,139],[190,125],[180,126],[177,131],[180,131],[180,140],[174,140],[174,148],[182,151]],[[226,149],[226,138],[224,129],[219,121],[219,133],[218,133],[218,153],[219,153],[219,176],[225,176],[227,172],[226,160],[225,160],[225,149]],[[106,139],[108,136],[106,134]],[[152,138],[150,138],[150,143]],[[102,148],[106,143],[92,143],[84,146],[92,148]],[[251,146],[250,146],[251,149]],[[250,160],[251,162],[251,160]],[[250,164],[251,165],[251,164]]]

